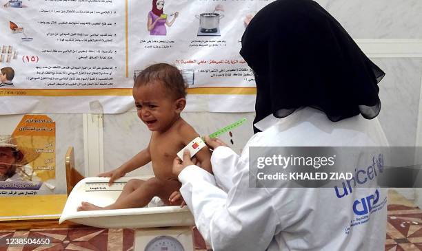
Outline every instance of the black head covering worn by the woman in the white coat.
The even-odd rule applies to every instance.
[[[271,113],[284,118],[299,107],[319,109],[334,122],[379,114],[377,83],[385,73],[315,1],[265,6],[246,28],[240,54],[255,73],[254,123]]]

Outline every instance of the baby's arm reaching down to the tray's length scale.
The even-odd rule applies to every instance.
[[[113,171],[107,173],[101,173],[100,177],[110,177],[110,181],[108,184],[112,184],[114,180],[119,179],[119,177],[124,176],[126,173],[134,171],[134,169],[139,168],[141,166],[145,166],[151,161],[150,156],[150,147],[148,146],[146,149],[143,149],[137,155],[134,155],[132,159],[128,160],[118,168],[114,169]]]

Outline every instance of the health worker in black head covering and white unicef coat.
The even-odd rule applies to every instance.
[[[206,138],[214,149],[214,176],[195,166],[188,152],[173,164],[204,239],[213,250],[384,250],[387,193],[368,169],[379,155],[362,147],[388,145],[375,118],[384,73],[311,0],[279,0],[263,8],[243,34],[241,55],[255,73],[254,127],[261,133],[241,155]],[[259,149],[250,146],[359,146],[336,165],[365,188],[351,180],[349,188],[292,188],[296,181],[290,178],[262,179],[256,174],[269,174],[268,157],[291,149],[261,147],[257,157]],[[267,159],[259,167],[262,157]]]

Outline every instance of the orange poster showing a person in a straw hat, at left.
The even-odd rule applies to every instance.
[[[0,194],[52,193],[56,170],[55,122],[25,115],[11,135],[0,135]]]

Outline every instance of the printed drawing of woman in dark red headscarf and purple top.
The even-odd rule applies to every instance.
[[[172,21],[168,21],[167,14],[163,14],[164,0],[152,0],[152,10],[148,12],[148,31],[153,36],[165,36],[167,30],[165,25],[168,27],[172,26],[179,12],[174,12],[170,16],[174,16]]]

